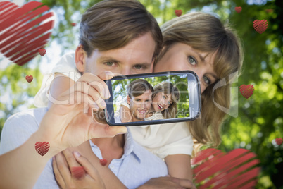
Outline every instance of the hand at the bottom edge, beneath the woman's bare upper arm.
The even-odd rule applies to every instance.
[[[172,189],[172,188],[192,188],[196,189],[188,179],[173,178],[170,176],[151,178],[151,180],[139,186],[138,189]]]

